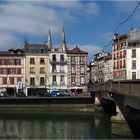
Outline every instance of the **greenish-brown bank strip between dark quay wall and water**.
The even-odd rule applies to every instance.
[[[0,112],[78,112],[78,113],[93,113],[101,109],[99,105],[95,104],[49,104],[49,105],[0,105]]]

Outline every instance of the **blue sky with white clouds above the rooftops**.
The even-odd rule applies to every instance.
[[[23,48],[29,43],[47,41],[51,30],[52,45],[61,45],[62,28],[69,49],[76,45],[88,52],[88,61],[112,39],[118,24],[134,10],[138,1],[94,0],[1,0],[0,51]],[[140,29],[140,6],[133,16],[119,26],[117,33],[127,34],[130,28]]]

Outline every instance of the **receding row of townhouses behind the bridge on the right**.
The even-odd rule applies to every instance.
[[[91,81],[97,84],[140,79],[140,31],[131,28],[128,34],[115,34],[112,55],[104,51],[96,54],[90,67]]]

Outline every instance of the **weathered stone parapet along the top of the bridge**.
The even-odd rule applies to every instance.
[[[94,85],[94,92],[110,92],[140,98],[140,80],[108,81]]]

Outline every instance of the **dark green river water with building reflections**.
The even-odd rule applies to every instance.
[[[0,113],[1,139],[122,139],[104,113]]]

